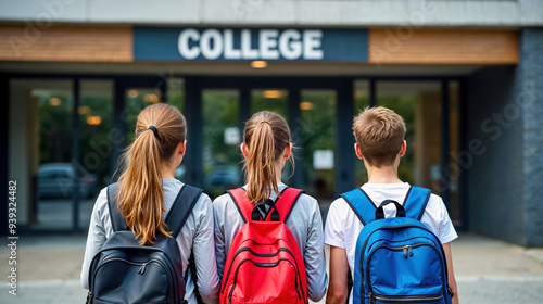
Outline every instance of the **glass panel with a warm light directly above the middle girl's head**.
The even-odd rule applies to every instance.
[[[251,114],[261,111],[272,111],[288,121],[289,92],[279,89],[251,91]]]

